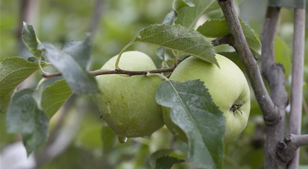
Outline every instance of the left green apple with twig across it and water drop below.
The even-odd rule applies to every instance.
[[[114,70],[117,55],[107,61],[102,70]],[[152,59],[139,51],[127,51],[119,67],[128,71],[156,69]],[[96,76],[100,94],[94,96],[99,111],[110,128],[122,137],[150,136],[163,126],[161,106],[155,94],[162,79],[158,76],[119,74]]]

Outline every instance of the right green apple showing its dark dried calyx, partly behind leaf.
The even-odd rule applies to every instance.
[[[184,82],[200,79],[209,90],[213,101],[225,117],[224,142],[234,140],[246,127],[250,112],[250,91],[241,69],[228,58],[216,54],[220,68],[196,57],[182,61],[170,76],[170,80]],[[234,104],[242,104],[241,112],[231,110]],[[163,118],[169,131],[187,143],[185,133],[171,121],[170,109],[162,107]]]

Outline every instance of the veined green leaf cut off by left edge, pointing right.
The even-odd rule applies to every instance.
[[[44,66],[44,65],[42,65]],[[27,77],[39,69],[37,62],[29,62],[21,57],[9,57],[0,62],[0,112],[5,112],[14,89]]]

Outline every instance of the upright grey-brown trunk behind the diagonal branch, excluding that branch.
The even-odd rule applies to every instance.
[[[277,145],[284,137],[285,109],[287,104],[287,92],[285,86],[285,70],[283,66],[275,62],[274,39],[279,19],[280,8],[268,7],[261,34],[262,43],[262,74],[268,82],[270,97],[278,109],[278,117],[274,118],[275,123],[266,122],[265,140],[265,169],[284,168],[286,162],[276,156]]]

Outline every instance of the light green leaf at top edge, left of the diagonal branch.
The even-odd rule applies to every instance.
[[[177,12],[176,24],[194,28],[202,15],[220,10],[217,0],[190,0],[190,3],[194,4],[194,6],[183,3],[183,0],[174,1],[173,8]]]

